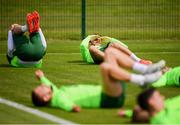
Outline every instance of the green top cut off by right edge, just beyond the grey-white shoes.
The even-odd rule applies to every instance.
[[[152,86],[180,86],[180,66],[166,72],[157,82],[153,83]]]

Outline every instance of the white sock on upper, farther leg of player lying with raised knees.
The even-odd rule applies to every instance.
[[[148,66],[138,62],[135,62],[133,65],[133,70],[142,74],[146,72],[147,68]]]

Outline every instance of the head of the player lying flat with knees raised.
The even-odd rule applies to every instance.
[[[35,106],[45,106],[52,98],[51,87],[41,84],[32,91],[32,102]]]

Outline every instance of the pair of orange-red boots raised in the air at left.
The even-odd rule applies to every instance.
[[[39,30],[39,13],[37,11],[34,11],[33,13],[28,13],[26,20],[29,33],[34,33]]]

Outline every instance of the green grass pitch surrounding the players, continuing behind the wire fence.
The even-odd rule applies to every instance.
[[[168,66],[180,62],[179,0],[86,0],[87,34],[99,33],[118,38],[139,57],[156,62],[165,59]],[[30,93],[39,85],[35,68],[13,68],[7,63],[7,31],[12,23],[24,24],[27,12],[38,10],[47,39],[43,68],[57,86],[102,84],[98,65],[82,62],[81,0],[0,0],[0,97],[34,107]],[[172,53],[162,53],[172,52]],[[163,87],[166,97],[179,94],[179,88]],[[128,84],[124,108],[132,108],[141,88]],[[118,118],[118,109],[82,109],[68,113],[48,107],[38,108],[77,123],[130,123]],[[0,104],[0,124],[50,123],[37,116]]]

